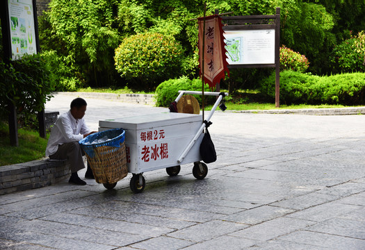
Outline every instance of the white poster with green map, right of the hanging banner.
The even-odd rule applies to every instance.
[[[225,31],[229,65],[275,64],[275,29]]]

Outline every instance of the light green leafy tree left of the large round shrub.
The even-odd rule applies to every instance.
[[[115,0],[53,0],[49,3],[47,21],[49,40],[55,46],[47,49],[65,51],[65,63],[74,67],[86,81],[97,83],[97,76],[110,79],[114,72],[114,49],[120,42],[116,24]],[[106,77],[105,77],[106,76]]]

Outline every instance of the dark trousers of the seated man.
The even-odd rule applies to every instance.
[[[85,164],[83,163],[84,155],[85,153],[81,149],[79,142],[67,142],[58,145],[56,153],[49,156],[49,158],[51,160],[69,160],[71,173],[75,173],[85,168]]]

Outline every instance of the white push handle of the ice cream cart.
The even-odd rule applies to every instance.
[[[184,90],[179,90],[179,97],[177,97],[177,101],[179,101],[180,97],[185,93],[185,94],[202,94],[202,92],[198,92],[198,91],[184,91]],[[211,108],[211,112],[209,113],[208,118],[206,119],[206,122],[209,122],[211,117],[213,116],[214,111],[216,111],[218,104],[220,103],[220,101],[223,98],[223,95],[218,93],[218,92],[204,92],[204,94],[206,93],[210,93],[208,95],[216,95],[218,96],[216,103],[214,103],[213,108]],[[227,96],[228,93],[225,93],[225,95]],[[193,145],[195,144],[195,142],[197,141],[197,138],[199,138],[199,136],[202,134],[203,130],[205,128],[205,123],[203,122],[202,126],[200,126],[199,130],[197,131],[197,133],[195,134],[193,140],[190,141],[190,143],[188,144],[188,147],[186,147],[186,149],[184,149],[184,151],[181,153],[181,156],[179,157],[179,159],[177,159],[177,163],[181,163],[184,158],[186,157],[186,155],[188,154],[188,152],[190,151],[190,149],[193,147]]]

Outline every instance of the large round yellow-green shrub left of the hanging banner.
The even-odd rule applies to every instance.
[[[115,69],[136,83],[135,88],[152,90],[181,72],[181,45],[170,35],[142,33],[125,38],[115,49]]]

